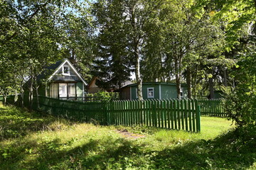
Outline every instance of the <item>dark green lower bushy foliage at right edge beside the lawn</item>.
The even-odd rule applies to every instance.
[[[235,87],[226,91],[226,111],[238,126],[256,124],[255,57],[255,41],[252,40],[240,52],[238,67],[231,73]]]

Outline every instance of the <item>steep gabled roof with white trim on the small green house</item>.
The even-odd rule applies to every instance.
[[[45,71],[43,71],[43,73],[39,74],[37,79],[47,79],[47,75],[50,75],[50,77],[48,78],[48,80],[53,79],[53,76],[60,70],[62,69],[64,64],[68,64],[68,66],[70,67],[70,69],[73,69],[73,72],[75,72],[75,74],[78,76],[78,78],[82,81],[83,84],[87,85],[87,83],[85,82],[84,79],[82,79],[82,77],[80,76],[80,74],[78,73],[78,70],[75,69],[75,67],[73,66],[73,64],[68,60],[68,59],[63,59],[60,60],[58,62],[55,62],[54,64],[50,64],[50,66],[45,68]]]

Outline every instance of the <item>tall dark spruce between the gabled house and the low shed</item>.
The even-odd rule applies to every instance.
[[[120,1],[102,2],[94,5],[97,16],[95,25],[100,32],[95,38],[95,61],[92,74],[102,89],[120,88],[132,71],[132,57],[129,54],[127,28],[124,26],[123,6]]]

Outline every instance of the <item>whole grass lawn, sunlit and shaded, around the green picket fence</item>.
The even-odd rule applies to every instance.
[[[201,133],[104,127],[0,106],[0,169],[256,169],[256,131],[230,124],[202,117]]]

